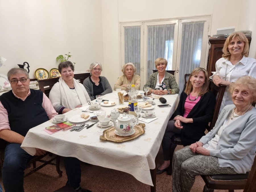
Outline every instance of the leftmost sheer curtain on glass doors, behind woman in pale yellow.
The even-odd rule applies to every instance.
[[[125,63],[133,63],[137,68],[136,75],[140,75],[141,67],[141,26],[124,27]]]

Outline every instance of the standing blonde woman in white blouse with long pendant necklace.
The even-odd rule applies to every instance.
[[[243,75],[256,78],[256,59],[248,57],[248,39],[241,32],[234,32],[228,36],[222,49],[223,54],[216,64],[216,71],[212,72],[214,84],[226,85],[220,112],[224,106],[232,104],[228,86]]]

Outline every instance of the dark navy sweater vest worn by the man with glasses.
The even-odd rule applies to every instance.
[[[42,91],[30,89],[30,95],[22,101],[10,90],[0,96],[0,101],[7,110],[11,131],[20,135],[26,136],[30,128],[49,120],[42,107]]]

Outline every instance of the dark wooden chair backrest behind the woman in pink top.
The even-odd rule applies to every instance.
[[[209,80],[209,90],[212,91],[215,94],[216,104],[215,104],[215,107],[214,107],[212,121],[210,123],[210,127],[209,127],[208,131],[210,131],[215,126],[215,123],[218,119],[218,114],[219,114],[219,111],[220,111],[220,106],[221,106],[221,102],[222,102],[222,99],[223,99],[223,96],[224,96],[225,89],[226,89],[226,85],[220,84],[219,87],[218,87],[214,84],[214,82],[211,79]]]

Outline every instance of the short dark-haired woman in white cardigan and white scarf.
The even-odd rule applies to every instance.
[[[63,114],[91,101],[84,86],[74,79],[74,65],[70,61],[59,64],[61,74],[49,93],[49,99],[57,113]]]

